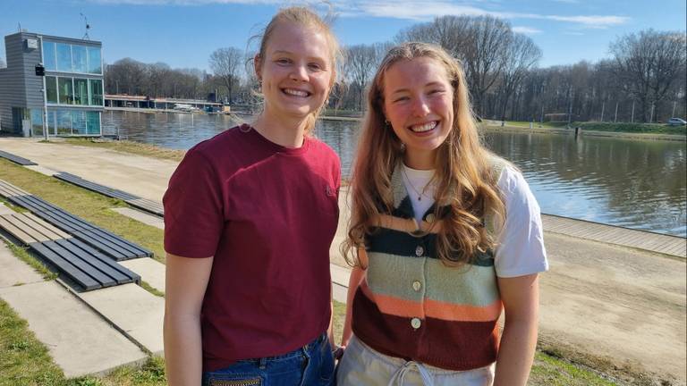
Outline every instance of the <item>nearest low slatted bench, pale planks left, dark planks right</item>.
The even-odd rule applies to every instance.
[[[83,290],[140,283],[140,275],[32,214],[0,215],[3,229]]]

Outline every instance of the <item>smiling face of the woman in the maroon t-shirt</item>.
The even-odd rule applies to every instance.
[[[265,113],[273,119],[304,119],[325,103],[334,80],[327,37],[317,29],[279,22],[264,57],[256,57]]]

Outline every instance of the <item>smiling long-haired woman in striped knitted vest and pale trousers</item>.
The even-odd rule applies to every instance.
[[[461,65],[442,48],[386,55],[350,194],[338,384],[524,385],[548,266],[539,206],[481,145]]]

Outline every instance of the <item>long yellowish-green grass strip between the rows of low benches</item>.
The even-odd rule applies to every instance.
[[[33,172],[4,159],[0,159],[0,179],[148,248],[155,254],[157,261],[165,261],[163,231],[109,210],[115,206],[126,206],[121,200]]]

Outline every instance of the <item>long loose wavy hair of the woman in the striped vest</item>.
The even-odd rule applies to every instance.
[[[442,262],[449,266],[461,265],[470,262],[478,251],[494,248],[495,240],[485,227],[485,215],[505,219],[505,206],[496,187],[496,176],[492,175],[491,160],[496,155],[481,144],[461,64],[439,46],[425,43],[394,46],[379,65],[369,87],[368,111],[352,170],[349,190],[352,215],[342,252],[353,266],[361,266],[358,250],[364,247],[365,238],[380,226],[379,214],[392,211],[391,177],[403,160],[403,143],[385,122],[385,74],[395,63],[417,58],[440,63],[454,88],[454,122],[445,142],[437,148],[435,159],[435,216],[442,221],[437,231],[437,251]]]

